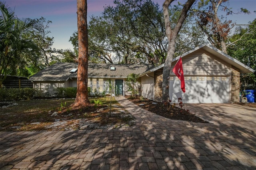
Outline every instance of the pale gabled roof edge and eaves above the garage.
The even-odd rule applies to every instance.
[[[208,51],[209,53],[212,53],[216,57],[226,61],[227,63],[230,63],[234,67],[238,68],[240,70],[240,73],[254,73],[254,70],[247,65],[241,63],[240,61],[234,59],[233,57],[230,57],[228,54],[220,51],[219,49],[213,47],[212,45],[208,43],[204,43],[202,45],[199,45],[198,47],[195,47],[194,49],[191,49],[190,51],[183,53],[182,55],[179,55],[178,57],[174,58],[172,62],[178,60],[180,57],[184,57],[186,55],[189,55],[190,53],[198,50],[198,49],[204,49],[205,51]],[[143,75],[146,75],[147,73],[154,72],[160,68],[164,67],[164,64],[159,65],[158,67],[154,67],[144,73],[142,73],[139,77],[142,77]]]

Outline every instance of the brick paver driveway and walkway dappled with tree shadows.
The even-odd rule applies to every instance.
[[[0,132],[0,169],[255,169],[256,109],[185,105],[210,123],[160,117],[118,101],[138,123],[113,130]]]

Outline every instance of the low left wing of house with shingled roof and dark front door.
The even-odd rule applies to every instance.
[[[49,95],[56,93],[57,87],[77,87],[78,63],[55,63],[32,75],[30,80],[35,89],[44,90]],[[114,81],[118,95],[131,95],[126,85],[131,73],[142,74],[152,68],[146,64],[95,64],[88,63],[88,87],[94,92],[108,94],[108,83]]]

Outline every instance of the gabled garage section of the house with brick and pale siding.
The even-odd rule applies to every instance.
[[[180,79],[170,73],[170,99],[184,103],[233,103],[240,98],[240,73],[254,70],[223,53],[210,44],[202,44],[176,57],[173,69],[182,57],[186,92],[180,89]],[[142,73],[140,83],[142,96],[155,101],[162,100],[162,73],[164,64]]]

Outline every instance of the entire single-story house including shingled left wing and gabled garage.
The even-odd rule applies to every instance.
[[[184,103],[233,103],[240,101],[240,73],[254,70],[210,44],[203,44],[176,57],[172,68],[182,57],[186,92],[180,89],[180,80],[170,73],[170,99]],[[78,63],[56,63],[36,73],[30,79],[36,89],[54,94],[57,87],[76,87]],[[142,96],[162,100],[162,73],[164,64],[88,64],[88,87],[92,91],[108,93],[108,81],[114,81],[119,95],[131,95],[126,85],[130,73],[139,74]]]

